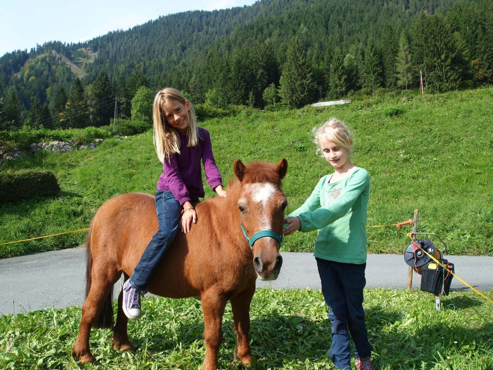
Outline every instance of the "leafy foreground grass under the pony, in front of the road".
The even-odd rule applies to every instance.
[[[492,306],[475,293],[451,293],[440,312],[430,294],[417,290],[374,289],[364,294],[376,369],[493,369]],[[257,290],[250,310],[256,361],[248,369],[335,369],[326,355],[330,347],[326,313],[320,291]],[[71,356],[80,314],[80,307],[70,307],[1,316],[0,368],[80,369]],[[229,304],[222,329],[220,369],[242,369],[233,362]],[[90,345],[98,365],[85,368],[200,369],[203,330],[198,300],[145,298],[142,317],[129,323],[137,351],[113,350],[111,331],[93,330]]]

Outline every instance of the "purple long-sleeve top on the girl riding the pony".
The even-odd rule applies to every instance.
[[[180,154],[174,153],[165,157],[163,173],[157,182],[158,190],[170,190],[176,200],[183,205],[190,201],[191,196],[203,198],[202,166],[204,163],[206,180],[212,189],[222,185],[222,178],[212,154],[211,135],[205,128],[199,127],[199,145],[187,147],[188,138],[178,132],[180,138]]]

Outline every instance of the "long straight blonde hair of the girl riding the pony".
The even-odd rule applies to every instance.
[[[154,104],[152,105],[152,120],[154,122],[153,142],[156,148],[157,157],[164,162],[166,157],[173,153],[180,153],[180,138],[174,127],[172,127],[164,117],[163,106],[166,102],[178,101],[186,105],[187,99],[183,94],[173,87],[166,87],[156,94]],[[188,138],[187,147],[196,147],[199,144],[199,128],[197,118],[192,103],[188,101],[190,109],[188,110],[188,127],[186,136]]]

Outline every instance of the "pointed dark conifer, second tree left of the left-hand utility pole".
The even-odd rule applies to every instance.
[[[65,111],[60,113],[60,122],[63,128],[81,128],[87,126],[87,109],[84,106],[84,90],[78,77],[70,86],[69,100]]]

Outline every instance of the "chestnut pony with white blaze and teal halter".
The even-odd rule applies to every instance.
[[[228,300],[237,334],[235,358],[251,363],[249,309],[255,280],[257,276],[276,279],[282,265],[279,247],[287,201],[281,180],[287,161],[282,159],[277,165],[252,162],[245,167],[238,159],[233,169],[237,180],[228,185],[227,197],[197,204],[198,222],[190,232],[178,232],[147,288],[158,296],[201,296],[204,370],[217,369],[222,316]],[[87,238],[87,297],[72,346],[74,357],[82,364],[95,361],[89,348],[93,326],[112,328],[112,346],[118,350],[134,348],[128,338],[122,292],[113,326],[112,288],[122,273],[125,279],[132,275],[157,228],[154,197],[149,194],[116,196],[94,216]]]

